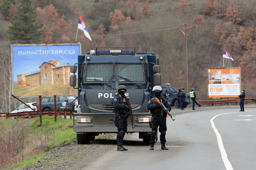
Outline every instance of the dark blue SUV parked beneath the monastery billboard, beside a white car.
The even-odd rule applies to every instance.
[[[74,96],[58,96],[56,97],[56,109],[62,110],[68,104],[70,104],[75,99]],[[77,100],[75,100],[70,106],[68,106],[65,110],[74,110],[75,104]],[[54,97],[42,97],[42,111],[44,110],[54,110]],[[39,102],[37,103],[37,110],[39,111]]]

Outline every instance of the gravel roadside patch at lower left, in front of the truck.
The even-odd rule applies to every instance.
[[[64,144],[63,146],[54,148],[40,158],[37,163],[28,165],[23,168],[23,170],[82,169],[105,152],[116,149],[116,144],[114,141],[107,143],[108,144],[76,144],[76,141],[74,140]]]

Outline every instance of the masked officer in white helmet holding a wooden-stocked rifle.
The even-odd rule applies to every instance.
[[[168,111],[171,111],[171,105],[170,103],[163,97],[161,98],[161,92],[162,92],[162,87],[157,85],[154,86],[153,92],[155,94],[155,97],[160,100],[161,103],[164,104],[166,109]],[[161,107],[160,104],[154,101],[154,98],[150,99],[147,105],[147,108],[150,110],[150,113],[152,114],[152,133],[151,133],[151,138],[150,138],[150,150],[154,150],[154,144],[155,144],[155,139],[156,139],[156,134],[157,134],[157,128],[159,126],[159,132],[160,132],[160,142],[161,142],[161,150],[168,150],[167,147],[165,147],[166,139],[166,116],[167,113],[166,111]]]

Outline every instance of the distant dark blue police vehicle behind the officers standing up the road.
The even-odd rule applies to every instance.
[[[176,90],[174,87],[172,87],[170,83],[166,83],[161,87],[163,89],[163,95],[165,95],[164,93],[166,90],[168,91],[168,93],[169,93],[168,101],[171,104],[171,106],[175,106],[176,108],[179,108],[178,99],[177,99],[177,93],[179,91]],[[191,100],[190,100],[189,93],[185,93],[184,108],[186,108],[188,106],[188,104],[190,104],[190,102],[191,102]]]

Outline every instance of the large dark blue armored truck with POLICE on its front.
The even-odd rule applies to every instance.
[[[147,103],[154,97],[152,88],[161,84],[159,59],[155,53],[135,53],[135,47],[96,47],[78,56],[71,66],[70,85],[78,81],[78,108],[73,114],[73,127],[78,144],[88,144],[95,136],[117,133],[111,104],[119,85],[126,86],[134,118],[128,118],[127,133],[139,133],[145,144],[150,140],[151,114]]]

